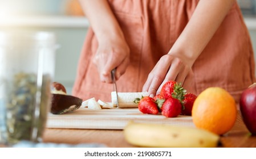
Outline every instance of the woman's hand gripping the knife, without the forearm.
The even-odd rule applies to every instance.
[[[104,35],[98,40],[99,45],[93,58],[94,64],[102,82],[111,83],[111,70],[116,68],[116,80],[124,74],[129,64],[129,47],[126,41],[120,38],[110,38]]]

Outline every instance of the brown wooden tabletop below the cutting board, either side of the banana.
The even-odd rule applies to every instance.
[[[62,129],[62,128],[47,128],[44,134],[44,142],[46,143],[67,143],[67,144],[82,144],[82,143],[99,143],[112,148],[129,148],[135,147],[124,139],[122,130],[108,129]],[[219,147],[256,147],[256,136],[251,136],[245,124],[242,121],[241,115],[238,114],[237,121],[234,127],[221,136]]]

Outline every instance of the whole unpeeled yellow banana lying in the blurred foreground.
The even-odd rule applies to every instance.
[[[220,136],[204,129],[165,124],[129,122],[125,140],[139,147],[217,147]]]

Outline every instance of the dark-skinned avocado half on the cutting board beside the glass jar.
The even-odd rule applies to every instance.
[[[80,108],[83,100],[72,95],[51,94],[51,113],[66,114]]]

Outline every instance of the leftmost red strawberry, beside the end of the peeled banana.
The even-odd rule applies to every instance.
[[[159,110],[155,100],[151,97],[142,97],[139,100],[138,108],[144,114],[158,114]]]

